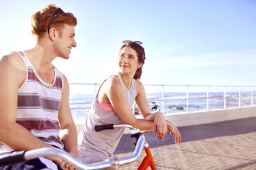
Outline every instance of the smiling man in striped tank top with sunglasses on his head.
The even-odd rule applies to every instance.
[[[56,5],[47,5],[32,16],[31,25],[36,46],[0,60],[0,154],[58,147],[78,158],[69,84],[65,75],[52,65],[56,57],[70,58],[70,49],[76,47],[76,18]],[[74,169],[51,157],[8,168],[45,167]]]

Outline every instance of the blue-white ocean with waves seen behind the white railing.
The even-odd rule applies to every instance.
[[[81,124],[89,112],[94,95],[70,94],[70,108],[76,124]],[[149,103],[155,103],[162,108],[162,93],[147,93]],[[164,93],[164,113],[178,114],[187,112],[186,93]],[[256,103],[256,95],[253,96],[253,104]],[[240,93],[240,106],[247,107],[252,104],[250,91]],[[226,109],[239,107],[239,93],[226,92]],[[224,109],[224,93],[209,93],[209,110]],[[189,93],[189,112],[203,112],[207,110],[206,93]]]

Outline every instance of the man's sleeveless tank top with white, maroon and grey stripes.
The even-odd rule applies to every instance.
[[[19,56],[21,56],[27,70],[25,82],[18,90],[17,123],[45,143],[63,148],[63,143],[59,137],[60,126],[58,124],[63,76],[54,67],[54,82],[47,84],[34,71],[30,60],[23,51],[19,52]],[[1,147],[3,146],[0,145],[0,149]]]

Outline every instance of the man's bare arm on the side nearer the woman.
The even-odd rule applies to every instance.
[[[70,110],[70,87],[67,78],[63,75],[64,87],[61,97],[61,106],[58,112],[58,123],[61,126],[61,141],[64,143],[65,151],[78,158],[77,131]]]

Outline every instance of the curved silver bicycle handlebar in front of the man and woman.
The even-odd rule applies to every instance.
[[[114,127],[129,127],[130,129],[134,129],[134,127],[132,127],[131,125],[113,125],[113,128]],[[112,166],[124,165],[129,162],[133,162],[138,158],[138,156],[140,156],[144,143],[145,136],[141,135],[138,138],[138,142],[136,148],[134,149],[134,154],[132,156],[129,156],[127,158],[109,158],[103,162],[96,162],[93,164],[85,164],[81,160],[78,160],[77,158],[74,158],[74,156],[68,154],[66,151],[52,147],[45,147],[30,151],[17,151],[12,154],[1,156],[0,167],[6,165],[14,165],[19,162],[25,162],[34,158],[39,158],[41,156],[55,156],[61,158],[62,160],[69,163],[73,167],[76,167],[76,169],[105,169],[110,168]]]

